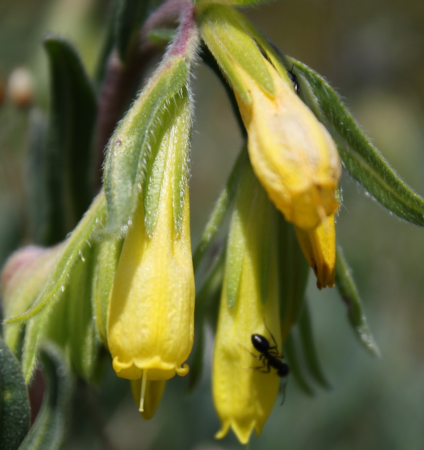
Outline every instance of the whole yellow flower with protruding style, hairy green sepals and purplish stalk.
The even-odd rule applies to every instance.
[[[188,184],[190,68],[197,44],[188,2],[173,42],[115,130],[105,160],[108,230],[128,229],[109,296],[107,343],[117,375],[134,380],[141,412],[146,398],[147,416],[164,387],[153,381],[185,375],[193,345]]]

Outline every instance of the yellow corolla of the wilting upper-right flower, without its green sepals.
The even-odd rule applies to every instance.
[[[335,190],[341,165],[327,129],[300,100],[293,85],[265,60],[274,95],[265,92],[239,65],[234,69],[250,96],[236,91],[248,132],[253,170],[288,222],[310,230],[338,207]]]

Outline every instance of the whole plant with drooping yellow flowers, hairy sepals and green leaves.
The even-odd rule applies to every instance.
[[[424,201],[328,82],[237,9],[251,3],[117,1],[95,80],[66,39],[45,37],[50,116],[28,156],[33,244],[2,271],[2,448],[62,445],[75,392],[95,389],[111,367],[131,385],[140,420],[152,418],[176,375],[196,387],[205,330],[214,336],[216,437],[231,428],[247,443],[289,378],[328,387],[309,276],[338,290],[358,342],[378,355],[336,243],[340,177],[419,226]],[[243,145],[192,247],[200,64],[222,82]]]

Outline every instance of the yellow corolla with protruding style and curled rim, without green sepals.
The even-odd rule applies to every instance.
[[[188,185],[179,185],[184,192],[183,204],[174,204],[175,167],[181,160],[174,131],[174,126],[166,131],[150,176],[159,183],[160,192],[153,231],[146,230],[141,195],[125,237],[108,309],[107,338],[113,367],[123,378],[143,377],[143,386],[148,379],[185,375],[189,368],[182,364],[193,344]],[[178,229],[175,209],[182,210]],[[140,410],[143,399],[142,388]]]

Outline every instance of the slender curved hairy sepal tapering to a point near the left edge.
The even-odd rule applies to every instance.
[[[84,255],[86,247],[95,237],[99,228],[103,226],[105,210],[105,196],[102,190],[63,244],[46,285],[35,303],[27,311],[7,318],[5,323],[25,322],[60,297],[71,279],[76,262],[79,261],[81,255]]]

